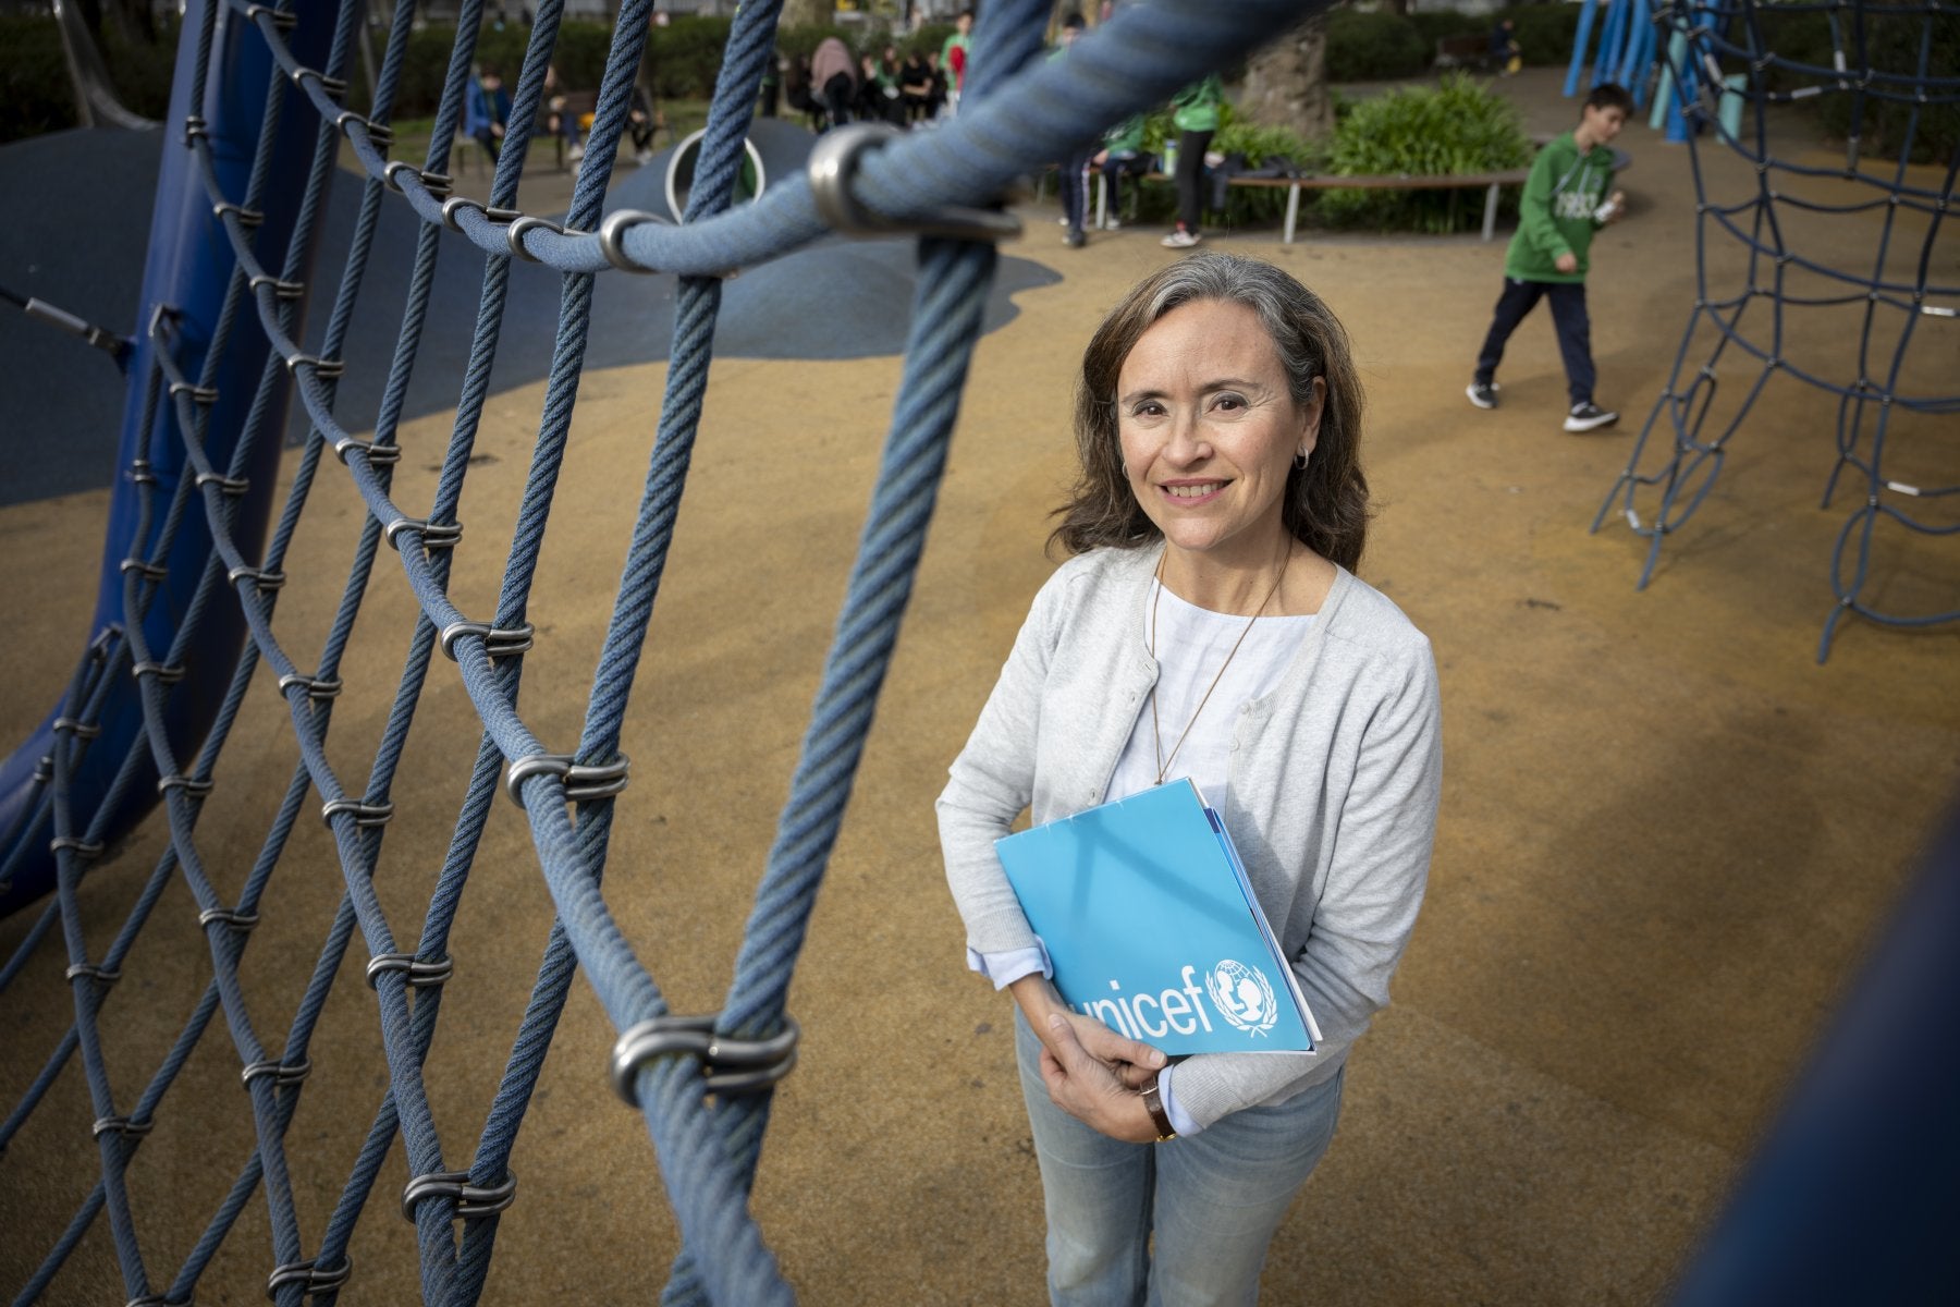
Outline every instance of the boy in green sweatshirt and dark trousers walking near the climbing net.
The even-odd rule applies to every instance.
[[[1633,112],[1623,86],[1601,82],[1580,106],[1580,125],[1564,133],[1531,165],[1531,178],[1517,204],[1517,235],[1503,257],[1503,294],[1492,314],[1490,333],[1464,394],[1478,408],[1497,408],[1497,364],[1503,343],[1539,300],[1552,302],[1558,355],[1566,363],[1572,408],[1566,431],[1593,431],[1619,421],[1619,413],[1593,404],[1592,319],[1586,314],[1586,255],[1593,231],[1617,221],[1627,194],[1613,184],[1613,137]]]

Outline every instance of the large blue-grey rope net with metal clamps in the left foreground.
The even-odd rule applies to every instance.
[[[208,92],[229,90],[208,84],[218,47],[225,39],[249,35],[221,29],[221,16],[225,25],[243,24],[257,31],[276,63],[276,76],[269,78],[249,182],[241,194],[225,194],[220,182],[214,135],[221,131],[221,123],[208,123],[198,112],[171,123],[172,133],[180,133],[180,145],[169,143],[167,149],[190,151],[204,200],[221,223],[235,268],[225,284],[221,312],[208,325],[208,341],[188,339],[182,314],[157,304],[145,339],[137,343],[141,455],[125,468],[127,484],[118,488],[118,494],[133,492],[135,500],[133,545],[122,562],[120,621],[104,625],[80,658],[51,721],[51,749],[33,770],[29,799],[20,805],[0,843],[0,896],[31,888],[39,872],[37,858],[51,862],[53,882],[47,907],[18,950],[0,964],[0,990],[20,976],[59,925],[74,1001],[74,1021],[67,1035],[0,1123],[0,1148],[16,1137],[78,1052],[100,1156],[100,1180],[14,1301],[39,1299],[106,1209],[127,1303],[188,1303],[227,1231],[263,1187],[272,1242],[267,1295],[280,1307],[333,1303],[353,1270],[349,1244],[355,1223],[396,1135],[404,1140],[412,1176],[400,1205],[402,1215],[416,1225],[423,1299],[445,1305],[476,1301],[490,1268],[500,1213],[515,1199],[515,1176],[508,1158],[572,974],[584,968],[619,1031],[608,1068],[612,1086],[645,1117],[680,1229],[682,1248],[662,1301],[788,1303],[794,1295],[762,1242],[747,1209],[747,1195],[772,1086],[796,1062],[798,1029],[784,1001],[790,974],[923,549],[960,388],[982,329],[998,261],[994,241],[1015,229],[1013,219],[992,206],[1019,174],[1100,135],[1103,123],[1162,102],[1178,86],[1249,55],[1315,6],[1294,0],[1243,0],[1231,10],[1217,10],[1203,0],[1127,6],[1119,18],[1076,43],[1064,74],[1039,59],[1047,0],[1000,0],[988,6],[974,35],[974,74],[956,120],[909,137],[829,133],[829,145],[811,159],[808,176],[792,176],[757,202],[729,210],[749,108],[762,69],[774,57],[780,12],[780,0],[743,4],[717,76],[686,225],[633,212],[615,212],[602,221],[606,184],[645,51],[651,0],[627,0],[619,8],[584,167],[564,221],[515,208],[563,0],[543,0],[537,6],[515,80],[506,147],[484,204],[451,198],[445,174],[463,114],[482,0],[465,0],[457,16],[457,41],[423,167],[386,159],[388,114],[414,27],[412,0],[394,10],[368,114],[355,114],[339,102],[347,90],[345,73],[359,39],[363,8],[341,4],[335,12],[331,6],[318,6],[302,14],[292,0],[276,6],[212,0],[192,2],[186,16],[184,39],[196,41],[188,98],[194,110],[206,106]],[[294,55],[296,37],[318,35],[316,24],[327,22],[331,51],[319,69],[308,67]],[[255,247],[255,231],[272,229],[276,223],[267,221],[269,212],[290,202],[290,196],[269,186],[267,176],[282,116],[296,108],[292,96],[300,98],[298,110],[318,114],[319,123],[292,237],[280,259]],[[302,274],[343,137],[367,176],[323,343],[319,353],[308,355],[296,341],[308,294]],[[335,380],[380,206],[390,192],[421,223],[402,331],[372,437],[357,439],[333,413]],[[402,457],[396,429],[431,308],[433,268],[445,227],[486,255],[484,278],[453,435],[429,509],[414,515],[396,506],[388,490],[392,466]],[[729,270],[780,257],[825,231],[917,233],[919,290],[890,435],[835,641],[823,664],[735,974],[717,1013],[684,1017],[666,1009],[659,986],[635,958],[600,892],[613,799],[627,782],[627,758],[617,745],[702,413],[721,280]],[[457,506],[488,396],[514,259],[545,263],[563,272],[559,335],[502,592],[492,617],[472,621],[447,598],[449,560],[463,535]],[[276,274],[267,270],[274,261],[280,266]],[[525,727],[515,702],[523,654],[535,639],[525,621],[525,604],[570,427],[594,274],[655,268],[678,274],[678,294],[674,345],[647,484],[576,750],[553,752]],[[227,351],[245,349],[241,341],[251,327],[269,343],[259,384],[239,429],[218,431],[214,413],[221,411],[218,382],[223,359]],[[184,366],[180,355],[194,355],[198,345],[204,347],[202,363]],[[247,509],[255,502],[247,468],[255,451],[263,459],[265,449],[272,449],[276,459],[288,384],[298,392],[312,429],[298,453],[290,492],[270,525],[270,539],[253,560],[249,555],[257,551],[241,539],[249,535]],[[218,449],[227,437],[229,457]],[[368,513],[331,629],[312,670],[302,670],[280,645],[272,613],[286,578],[286,551],[310,488],[321,466],[331,468],[327,451],[345,466]],[[267,506],[267,513],[269,484],[270,478],[263,478],[257,488],[257,502]],[[176,596],[182,600],[182,615],[174,629],[167,641],[155,641],[147,619],[155,615],[159,594],[171,582],[172,568],[167,560],[174,547],[194,539],[200,529],[208,531],[210,549],[196,555],[196,582]],[[343,688],[341,658],[382,545],[398,555],[419,615],[372,768],[367,782],[349,792],[327,762],[325,733],[335,696]],[[180,562],[176,570],[176,580],[182,582]],[[210,645],[208,629],[227,607],[223,592],[237,605],[249,639],[243,641],[229,678],[221,668],[218,672],[221,698],[210,729],[200,741],[180,747],[172,737],[172,690],[186,670],[202,670],[196,654]],[[482,737],[419,935],[412,948],[404,948],[382,913],[372,878],[394,811],[390,784],[437,651],[457,664],[482,721]],[[276,690],[286,702],[300,760],[237,899],[225,901],[206,870],[196,825],[212,790],[220,750],[261,662],[276,678]],[[139,729],[125,752],[110,754],[110,780],[100,794],[82,794],[78,774],[90,749],[114,747],[104,721],[114,715],[120,696],[133,700]],[[151,776],[167,815],[169,843],[110,944],[92,954],[82,935],[80,882],[90,862],[122,833],[112,829],[114,811],[137,796]],[[449,1160],[437,1137],[421,1062],[435,1037],[443,984],[451,978],[451,923],[500,784],[525,811],[557,919],[482,1133],[470,1160],[459,1166]],[[249,931],[261,919],[261,903],[286,839],[314,790],[321,803],[319,815],[333,833],[345,892],[290,1029],[274,1048],[253,1023],[239,980],[239,958]],[[198,907],[212,978],[169,1054],[131,1103],[127,1088],[118,1093],[110,1084],[98,1017],[137,933],[163,890],[178,876]],[[368,952],[367,984],[374,990],[388,1088],[374,1107],[372,1127],[347,1186],[308,1252],[294,1209],[284,1133],[312,1070],[308,1042],[314,1025],[357,931]],[[237,1180],[182,1266],[174,1274],[153,1276],[139,1248],[125,1168],[151,1131],[171,1084],[218,1017],[237,1052],[255,1144],[241,1158]],[[461,1236],[457,1221],[463,1223]]]

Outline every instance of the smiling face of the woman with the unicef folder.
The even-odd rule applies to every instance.
[[[1327,384],[1298,406],[1258,315],[1198,300],[1158,317],[1117,374],[1131,494],[1170,549],[1219,562],[1274,557],[1294,455],[1311,451]]]

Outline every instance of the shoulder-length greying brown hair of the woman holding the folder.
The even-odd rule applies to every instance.
[[[1200,300],[1252,310],[1286,366],[1294,404],[1313,402],[1313,378],[1327,382],[1319,439],[1305,470],[1286,478],[1282,519],[1307,549],[1352,570],[1368,537],[1368,482],[1360,472],[1360,376],[1347,331],[1311,290],[1290,274],[1243,255],[1180,259],[1137,282],[1090,337],[1076,382],[1080,470],[1051,543],[1072,555],[1113,545],[1135,549],[1158,539],[1131,494],[1117,435],[1115,388],[1123,361],[1164,314]]]

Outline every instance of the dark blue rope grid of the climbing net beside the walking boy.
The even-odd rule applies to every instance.
[[[1833,63],[1821,67],[1791,61],[1774,51],[1770,27],[1776,18],[1797,14],[1823,14],[1831,27]],[[1915,67],[1874,69],[1870,18],[1903,22],[1917,18],[1919,31],[1915,43]],[[1646,562],[1641,570],[1639,588],[1654,576],[1660,562],[1660,547],[1666,537],[1678,531],[1697,508],[1701,508],[1715,478],[1721,472],[1729,439],[1748,417],[1756,396],[1778,372],[1788,372],[1805,386],[1813,386],[1837,396],[1837,460],[1825,480],[1821,508],[1831,508],[1838,488],[1838,478],[1850,472],[1850,480],[1864,490],[1862,502],[1844,519],[1831,551],[1831,590],[1837,604],[1825,617],[1817,643],[1817,660],[1831,654],[1831,643],[1838,623],[1846,613],[1858,613],[1870,621],[1895,627],[1931,627],[1960,619],[1960,607],[1938,613],[1899,615],[1887,613],[1868,600],[1864,590],[1872,572],[1872,551],[1876,529],[1882,521],[1893,521],[1921,535],[1942,537],[1960,533],[1960,523],[1929,521],[1911,506],[1915,502],[1946,500],[1960,494],[1960,484],[1925,486],[1899,480],[1886,472],[1887,433],[1895,410],[1931,415],[1960,413],[1960,392],[1907,394],[1901,392],[1901,372],[1907,351],[1921,349],[1946,351],[1954,357],[1952,321],[1960,315],[1960,282],[1936,280],[1942,274],[1935,259],[1938,239],[1954,210],[1954,178],[1960,172],[1960,147],[1935,165],[1938,182],[1935,186],[1915,182],[1909,159],[1917,141],[1923,114],[1931,108],[1952,108],[1960,104],[1960,74],[1954,69],[1935,69],[1935,45],[1944,24],[1950,31],[1960,24],[1960,12],[1950,4],[1931,0],[1927,4],[1756,4],[1754,0],[1691,2],[1674,0],[1656,8],[1654,22],[1660,27],[1662,59],[1668,61],[1674,86],[1678,88],[1678,108],[1688,118],[1686,141],[1695,178],[1695,304],[1682,341],[1676,349],[1668,382],[1654,400],[1652,410],[1635,439],[1627,468],[1613,482],[1592,529],[1597,531],[1617,508],[1635,535],[1646,537]],[[1670,47],[1670,35],[1676,41]],[[1950,39],[1950,37],[1948,37]],[[1672,49],[1672,55],[1670,55]],[[1850,98],[1850,133],[1840,169],[1809,167],[1778,159],[1770,151],[1768,123],[1764,114],[1754,114],[1754,123],[1742,135],[1735,135],[1721,121],[1721,94],[1725,88],[1725,69],[1746,69],[1748,102],[1789,104],[1815,96]],[[1797,80],[1797,86],[1772,84],[1774,80]],[[1866,112],[1880,104],[1905,106],[1907,120],[1897,145],[1897,161],[1886,161],[1884,170],[1862,167],[1862,135],[1868,123]],[[1709,200],[1707,176],[1703,172],[1699,131],[1705,127],[1729,151],[1735,151],[1754,167],[1754,194],[1735,204],[1715,204]],[[1831,182],[1850,182],[1870,190],[1868,198],[1846,204],[1827,204],[1821,200],[1789,194],[1778,188],[1780,176],[1817,178]],[[1850,270],[1833,266],[1791,247],[1786,239],[1780,206],[1827,216],[1882,214],[1876,249],[1870,270]],[[1927,218],[1925,235],[1913,251],[1911,278],[1887,276],[1887,259],[1895,241],[1909,239],[1899,231],[1901,212]],[[1711,288],[1709,251],[1721,243],[1739,243],[1746,249],[1744,284],[1737,294],[1721,296]],[[1909,247],[1905,247],[1909,249]],[[1827,284],[1842,286],[1835,294],[1793,294],[1788,290],[1791,272],[1823,278]],[[1944,272],[1950,272],[1944,268]],[[1754,339],[1742,327],[1742,317],[1756,302],[1764,302],[1770,312],[1768,343]],[[1791,363],[1784,355],[1786,310],[1815,310],[1864,304],[1856,347],[1856,376],[1850,380],[1819,376]],[[1880,315],[1889,314],[1897,321],[1897,341],[1889,359],[1874,347],[1874,329]],[[1703,327],[1713,329],[1713,345],[1697,364],[1691,349]],[[1935,333],[1929,347],[1923,333]],[[1944,345],[1940,337],[1944,335]],[[1717,382],[1717,364],[1735,347],[1746,361],[1754,361],[1756,374],[1748,380],[1748,390],[1739,408],[1713,435],[1703,433],[1709,417]],[[1950,382],[1952,368],[1944,372]],[[1670,439],[1672,437],[1672,439]],[[1652,445],[1650,445],[1652,441]],[[1656,453],[1658,451],[1658,453]],[[1656,457],[1648,457],[1656,455]],[[1642,459],[1646,470],[1642,470]],[[1646,513],[1641,511],[1639,498],[1652,500]]]

